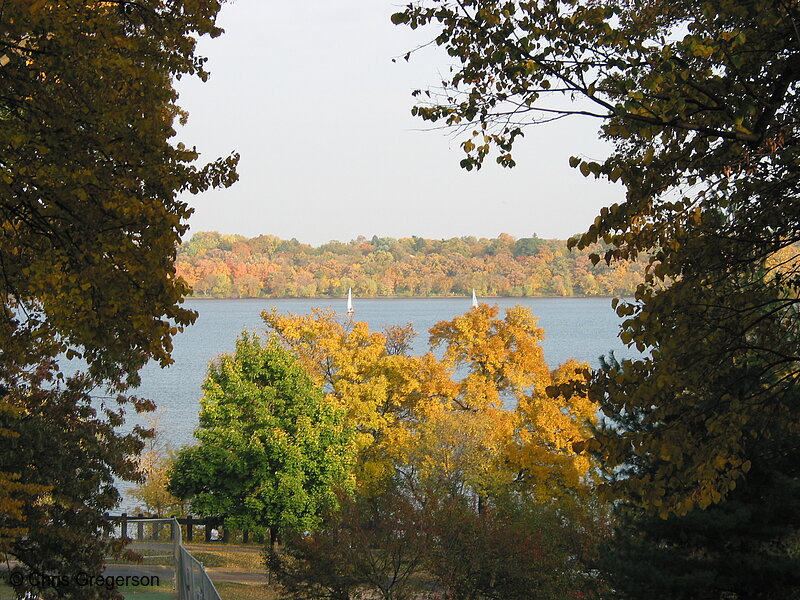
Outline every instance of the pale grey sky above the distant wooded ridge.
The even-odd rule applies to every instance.
[[[599,159],[599,122],[564,119],[526,130],[517,167],[458,166],[459,140],[411,116],[411,91],[439,81],[449,64],[433,37],[389,21],[388,0],[235,0],[226,33],[202,40],[211,79],[178,82],[189,124],[180,139],[202,158],[236,150],[240,180],[184,199],[192,231],[272,233],[320,244],[371,237],[566,238],[620,186],[584,179],[570,155]],[[396,63],[391,59],[397,57]]]

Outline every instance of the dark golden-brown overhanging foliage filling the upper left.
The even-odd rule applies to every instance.
[[[175,252],[191,214],[180,192],[236,179],[173,143],[172,81],[208,77],[194,54],[218,36],[217,0],[3,4],[0,256],[3,361],[71,347],[92,373],[170,362],[194,320]]]

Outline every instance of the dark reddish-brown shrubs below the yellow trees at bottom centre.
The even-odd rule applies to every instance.
[[[465,496],[410,493],[402,480],[380,494],[343,497],[315,531],[267,552],[287,598],[417,598],[437,588],[454,599],[557,600],[589,596],[586,569],[597,537],[556,505],[506,498],[482,512]]]

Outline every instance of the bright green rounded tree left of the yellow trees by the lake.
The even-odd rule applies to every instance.
[[[247,333],[211,365],[203,391],[200,443],[178,454],[170,492],[228,526],[313,529],[351,485],[343,411],[274,339]]]

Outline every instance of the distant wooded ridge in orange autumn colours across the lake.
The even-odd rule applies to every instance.
[[[569,250],[564,240],[416,236],[318,247],[274,235],[198,232],[184,242],[177,274],[196,297],[632,295],[643,262],[592,264],[602,244]]]

